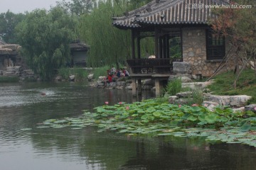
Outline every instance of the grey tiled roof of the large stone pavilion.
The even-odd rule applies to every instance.
[[[151,3],[113,18],[117,28],[139,28],[144,25],[207,24],[215,18],[209,5],[227,5],[228,0],[154,0]]]

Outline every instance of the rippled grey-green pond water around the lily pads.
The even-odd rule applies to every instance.
[[[152,96],[144,91],[142,99]],[[246,145],[208,144],[199,137],[127,137],[94,126],[37,128],[44,120],[76,118],[105,101],[139,99],[131,91],[86,84],[0,84],[0,169],[256,169],[256,149]]]

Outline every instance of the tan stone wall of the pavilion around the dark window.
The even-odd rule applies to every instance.
[[[210,77],[219,67],[221,61],[206,60],[206,28],[183,28],[182,30],[183,62],[191,63],[192,74]],[[226,40],[226,52],[228,52]],[[234,60],[230,60],[221,72],[234,68]]]

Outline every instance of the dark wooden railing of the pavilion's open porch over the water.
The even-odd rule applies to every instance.
[[[171,73],[173,71],[173,62],[182,62],[182,59],[131,59],[127,60],[133,74],[150,73]]]

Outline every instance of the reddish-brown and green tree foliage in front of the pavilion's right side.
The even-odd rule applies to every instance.
[[[232,52],[235,52],[235,73],[238,74],[234,82],[238,80],[242,70],[251,60],[254,60],[256,75],[256,2],[236,0],[231,4],[250,5],[251,8],[225,8],[218,9],[218,18],[212,21],[213,30],[217,34],[223,34],[230,42]],[[239,62],[242,69],[239,70]]]

